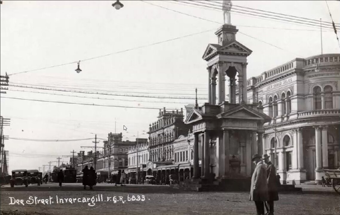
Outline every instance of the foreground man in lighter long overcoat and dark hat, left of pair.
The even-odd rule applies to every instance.
[[[257,215],[264,215],[264,202],[268,200],[267,169],[258,154],[253,155],[252,161],[256,167],[252,176],[249,200],[255,201]]]

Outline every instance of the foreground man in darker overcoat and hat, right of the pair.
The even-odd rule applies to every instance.
[[[276,168],[269,160],[267,154],[262,156],[263,161],[266,163],[267,168],[267,186],[268,186],[268,201],[265,202],[267,214],[274,214],[274,201],[278,200],[277,193],[277,179],[276,179]]]

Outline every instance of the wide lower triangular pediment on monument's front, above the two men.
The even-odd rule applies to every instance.
[[[220,113],[217,115],[217,118],[252,119],[265,122],[270,121],[270,117],[268,115],[249,108],[246,105],[242,105]]]

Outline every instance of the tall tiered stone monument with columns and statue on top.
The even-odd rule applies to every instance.
[[[230,1],[223,1],[231,7]],[[247,104],[246,68],[250,49],[236,40],[238,30],[228,23],[216,32],[218,43],[208,44],[203,59],[207,61],[208,102],[191,110],[185,123],[193,126],[194,168],[192,180],[222,187],[247,190],[254,169],[252,155],[264,154],[263,123],[271,119],[256,103]],[[225,81],[229,79],[229,98],[226,101]],[[218,80],[218,90],[216,90]],[[238,84],[236,85],[236,81]],[[218,91],[218,94],[216,93]],[[216,104],[216,97],[217,104]],[[238,96],[238,97],[236,97]],[[199,150],[198,137],[202,136]],[[199,166],[199,151],[202,165]],[[201,186],[201,188],[202,188]],[[203,188],[202,188],[203,189]],[[226,189],[228,190],[228,189]]]

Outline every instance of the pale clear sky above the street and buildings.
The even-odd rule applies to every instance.
[[[15,138],[5,140],[9,171],[43,170],[49,161],[56,164],[59,156],[66,163],[72,150],[89,151],[81,146],[94,145],[94,139],[17,138],[78,140],[97,134],[98,146],[103,146],[109,132],[122,132],[123,140],[133,141],[137,133],[148,137],[158,109],[194,104],[195,88],[203,98],[199,104],[207,102],[202,56],[209,43],[218,42],[214,32],[223,22],[222,11],[187,4],[203,1],[122,0],[120,10],[112,7],[114,2],[4,0],[1,4],[0,71],[13,74],[12,86],[1,94],[0,103],[1,115],[11,118],[4,135]],[[334,22],[340,23],[336,13],[340,1],[327,3]],[[331,22],[326,1],[235,0],[233,5]],[[321,54],[319,26],[233,11],[231,23],[239,29],[236,40],[253,51],[247,78],[294,58]],[[323,53],[340,53],[332,29],[323,29],[322,41]],[[75,72],[78,61],[80,73]],[[46,67],[51,68],[36,70]],[[60,91],[46,90],[55,87]]]

